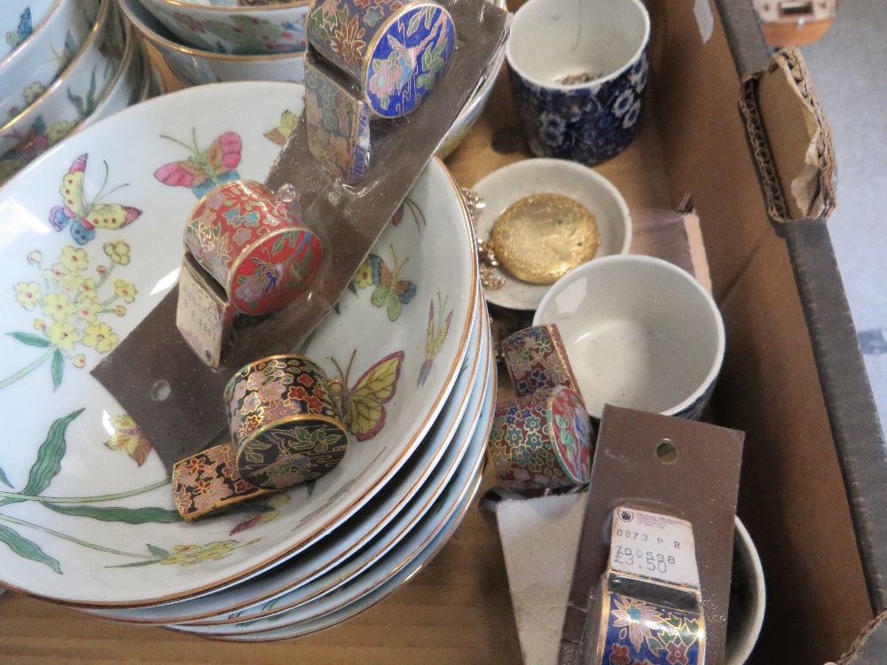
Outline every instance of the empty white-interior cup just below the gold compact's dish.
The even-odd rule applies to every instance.
[[[604,404],[698,418],[724,360],[724,322],[686,270],[652,256],[583,263],[539,303],[556,324],[590,415]]]

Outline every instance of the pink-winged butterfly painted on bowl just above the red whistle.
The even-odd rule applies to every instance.
[[[239,178],[237,167],[242,142],[234,132],[224,132],[206,150],[200,150],[197,144],[197,129],[192,133],[192,145],[162,134],[161,137],[184,145],[191,151],[187,160],[173,161],[154,171],[154,177],[161,183],[170,187],[187,187],[200,199],[218,185]]]

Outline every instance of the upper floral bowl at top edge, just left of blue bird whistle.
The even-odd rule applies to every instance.
[[[243,6],[236,2],[141,0],[180,43],[234,55],[294,53],[308,47],[305,17],[310,0]]]

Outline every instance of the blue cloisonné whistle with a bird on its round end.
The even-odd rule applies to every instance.
[[[370,162],[370,120],[421,105],[446,69],[455,26],[430,0],[315,0],[307,33],[309,150],[334,176],[357,183]]]

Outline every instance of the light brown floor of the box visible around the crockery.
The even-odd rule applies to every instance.
[[[175,89],[176,82],[165,74]],[[688,243],[685,226],[673,213],[654,121],[646,112],[636,141],[598,170],[628,202],[634,251],[663,254],[707,275],[698,230],[690,226],[693,242]],[[517,149],[497,152],[494,138],[497,145]],[[448,166],[460,184],[470,186],[495,168],[525,159],[522,145],[503,72],[481,120]],[[500,398],[506,394],[500,383]],[[488,465],[478,496],[495,483]],[[7,592],[0,596],[0,662],[515,665],[521,653],[498,532],[483,518],[475,498],[455,536],[409,583],[349,622],[316,635],[260,644],[211,642],[99,620]]]

